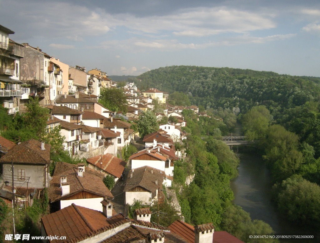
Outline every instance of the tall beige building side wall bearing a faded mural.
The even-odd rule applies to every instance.
[[[24,58],[20,59],[20,79],[44,81],[44,54],[28,45],[24,48]]]

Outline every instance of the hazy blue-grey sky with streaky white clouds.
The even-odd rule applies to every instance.
[[[172,65],[320,77],[318,0],[0,0],[18,43],[69,66],[139,75]]]

